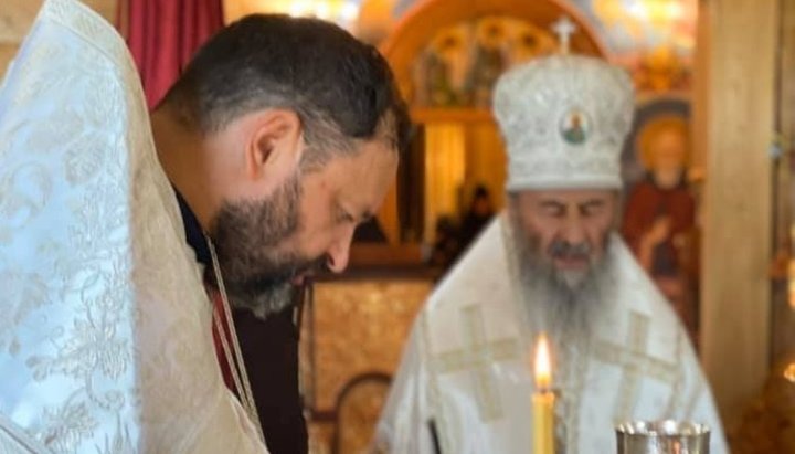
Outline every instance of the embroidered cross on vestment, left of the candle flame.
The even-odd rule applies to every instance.
[[[480,307],[467,306],[462,313],[464,348],[437,356],[434,359],[436,370],[439,373],[470,370],[475,380],[480,420],[495,420],[502,415],[502,405],[490,368],[495,362],[519,358],[519,342],[517,339],[488,342]]]

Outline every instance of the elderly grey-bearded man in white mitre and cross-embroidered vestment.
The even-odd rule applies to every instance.
[[[616,422],[671,418],[708,424],[711,452],[725,453],[688,337],[614,230],[629,77],[598,60],[551,56],[505,74],[494,108],[508,209],[417,316],[377,445],[530,452],[528,353],[545,331],[565,452],[613,453]]]

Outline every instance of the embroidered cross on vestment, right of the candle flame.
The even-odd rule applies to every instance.
[[[621,395],[616,402],[615,416],[627,418],[632,414],[644,376],[674,386],[678,372],[675,363],[662,361],[646,353],[648,347],[649,318],[643,314],[629,314],[629,330],[626,348],[615,344],[600,341],[594,347],[596,359],[623,368],[618,387]]]

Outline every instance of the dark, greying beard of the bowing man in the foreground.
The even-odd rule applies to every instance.
[[[284,250],[300,229],[300,179],[294,175],[266,200],[222,205],[211,237],[233,307],[259,318],[282,312],[294,300],[292,279],[322,262]]]

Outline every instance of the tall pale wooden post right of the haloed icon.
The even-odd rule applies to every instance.
[[[768,370],[775,1],[710,0],[702,352],[724,422]]]

